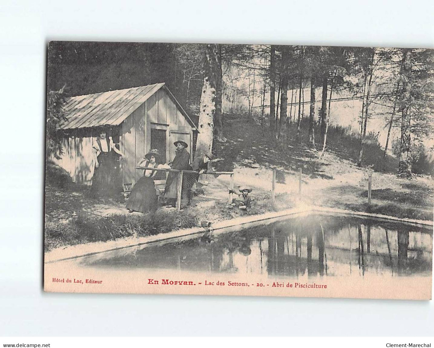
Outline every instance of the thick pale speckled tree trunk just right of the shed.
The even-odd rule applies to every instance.
[[[214,118],[216,112],[215,99],[217,79],[219,76],[219,49],[217,44],[207,44],[204,61],[204,85],[202,87],[199,109],[199,132],[197,135],[195,157],[203,156],[213,148]]]

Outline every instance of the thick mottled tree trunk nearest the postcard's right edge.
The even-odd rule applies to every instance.
[[[398,175],[411,177],[411,49],[404,49],[401,66],[401,142],[399,146]]]

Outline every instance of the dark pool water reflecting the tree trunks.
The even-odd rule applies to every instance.
[[[432,245],[432,232],[421,227],[309,216],[212,239],[103,253],[83,258],[82,264],[270,276],[428,275]]]

